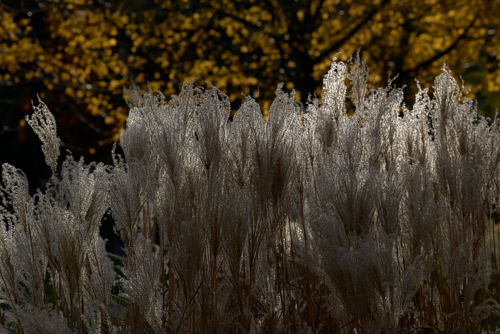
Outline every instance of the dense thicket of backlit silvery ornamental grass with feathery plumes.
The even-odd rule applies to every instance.
[[[250,96],[229,120],[193,82],[169,100],[131,88],[112,166],[58,164],[40,101],[46,189],[2,167],[4,331],[493,331],[500,119],[446,66],[411,110],[367,78],[334,59],[319,100],[302,111],[279,86],[267,120]],[[98,233],[108,211],[121,261]]]

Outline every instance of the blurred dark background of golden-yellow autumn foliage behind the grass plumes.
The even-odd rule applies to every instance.
[[[34,177],[45,168],[24,122],[36,93],[63,146],[108,162],[132,81],[170,95],[199,77],[233,109],[258,92],[265,113],[279,82],[305,103],[332,56],[346,61],[359,48],[370,81],[397,74],[407,96],[414,78],[429,87],[446,61],[491,115],[499,29],[499,2],[480,0],[0,0],[0,162]]]

